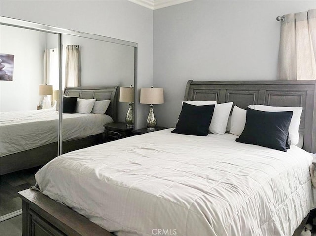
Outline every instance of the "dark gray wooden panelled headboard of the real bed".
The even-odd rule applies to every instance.
[[[316,81],[193,81],[187,83],[184,101],[234,102],[248,105],[303,107],[300,134],[303,149],[316,153]],[[233,105],[233,106],[234,106]]]

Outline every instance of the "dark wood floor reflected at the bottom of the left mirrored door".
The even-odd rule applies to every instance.
[[[35,185],[34,174],[39,169],[31,168],[0,176],[1,216],[21,209],[21,199],[17,192]]]

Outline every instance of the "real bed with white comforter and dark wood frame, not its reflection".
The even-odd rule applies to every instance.
[[[305,150],[173,129],[77,150],[40,169],[42,193],[20,192],[23,235],[299,235],[295,229],[315,207],[315,85],[188,81],[184,101],[302,106],[298,145]]]

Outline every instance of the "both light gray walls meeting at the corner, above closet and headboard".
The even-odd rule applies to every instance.
[[[154,110],[158,125],[171,127],[189,79],[275,80],[276,16],[312,8],[314,0],[205,0],[155,11],[125,0],[2,0],[0,14],[137,42],[138,88],[165,89],[165,103]],[[138,105],[136,128],[145,126],[148,111]]]

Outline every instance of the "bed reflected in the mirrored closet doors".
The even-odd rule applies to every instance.
[[[63,153],[99,144],[103,125],[116,120],[117,86],[66,87],[64,95],[110,99],[106,114],[63,114]],[[56,109],[2,112],[1,175],[46,164],[57,156],[59,112]]]

